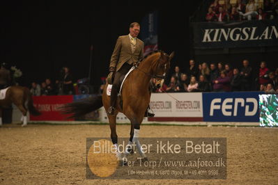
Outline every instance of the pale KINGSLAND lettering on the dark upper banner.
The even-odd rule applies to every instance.
[[[234,29],[205,29],[202,42],[222,42],[238,40],[267,40],[277,39],[278,31],[275,26],[268,26],[263,33],[258,33],[258,27]]]

